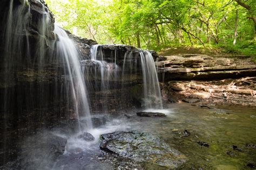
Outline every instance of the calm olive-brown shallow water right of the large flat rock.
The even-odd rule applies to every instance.
[[[189,159],[186,168],[245,169],[247,164],[256,161],[256,148],[246,147],[246,144],[256,143],[255,109],[208,109],[188,104],[171,104],[169,107],[172,109],[167,118],[147,121],[142,126],[184,153]],[[185,129],[190,136],[183,136]],[[200,146],[197,141],[210,146]],[[233,150],[232,145],[241,151]]]

